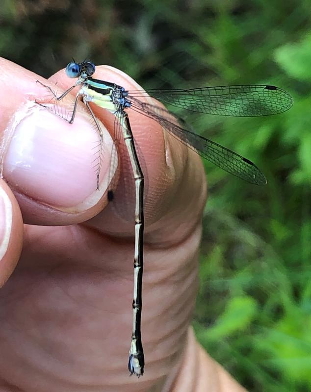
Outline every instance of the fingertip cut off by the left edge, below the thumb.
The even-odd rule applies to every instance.
[[[13,272],[22,250],[23,220],[10,188],[0,180],[0,287]]]

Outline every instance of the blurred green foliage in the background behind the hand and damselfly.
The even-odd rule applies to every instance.
[[[250,391],[310,391],[310,0],[2,0],[0,53],[43,76],[87,57],[149,88],[267,83],[293,95],[278,116],[187,117],[268,179],[256,187],[205,162],[194,326]]]

